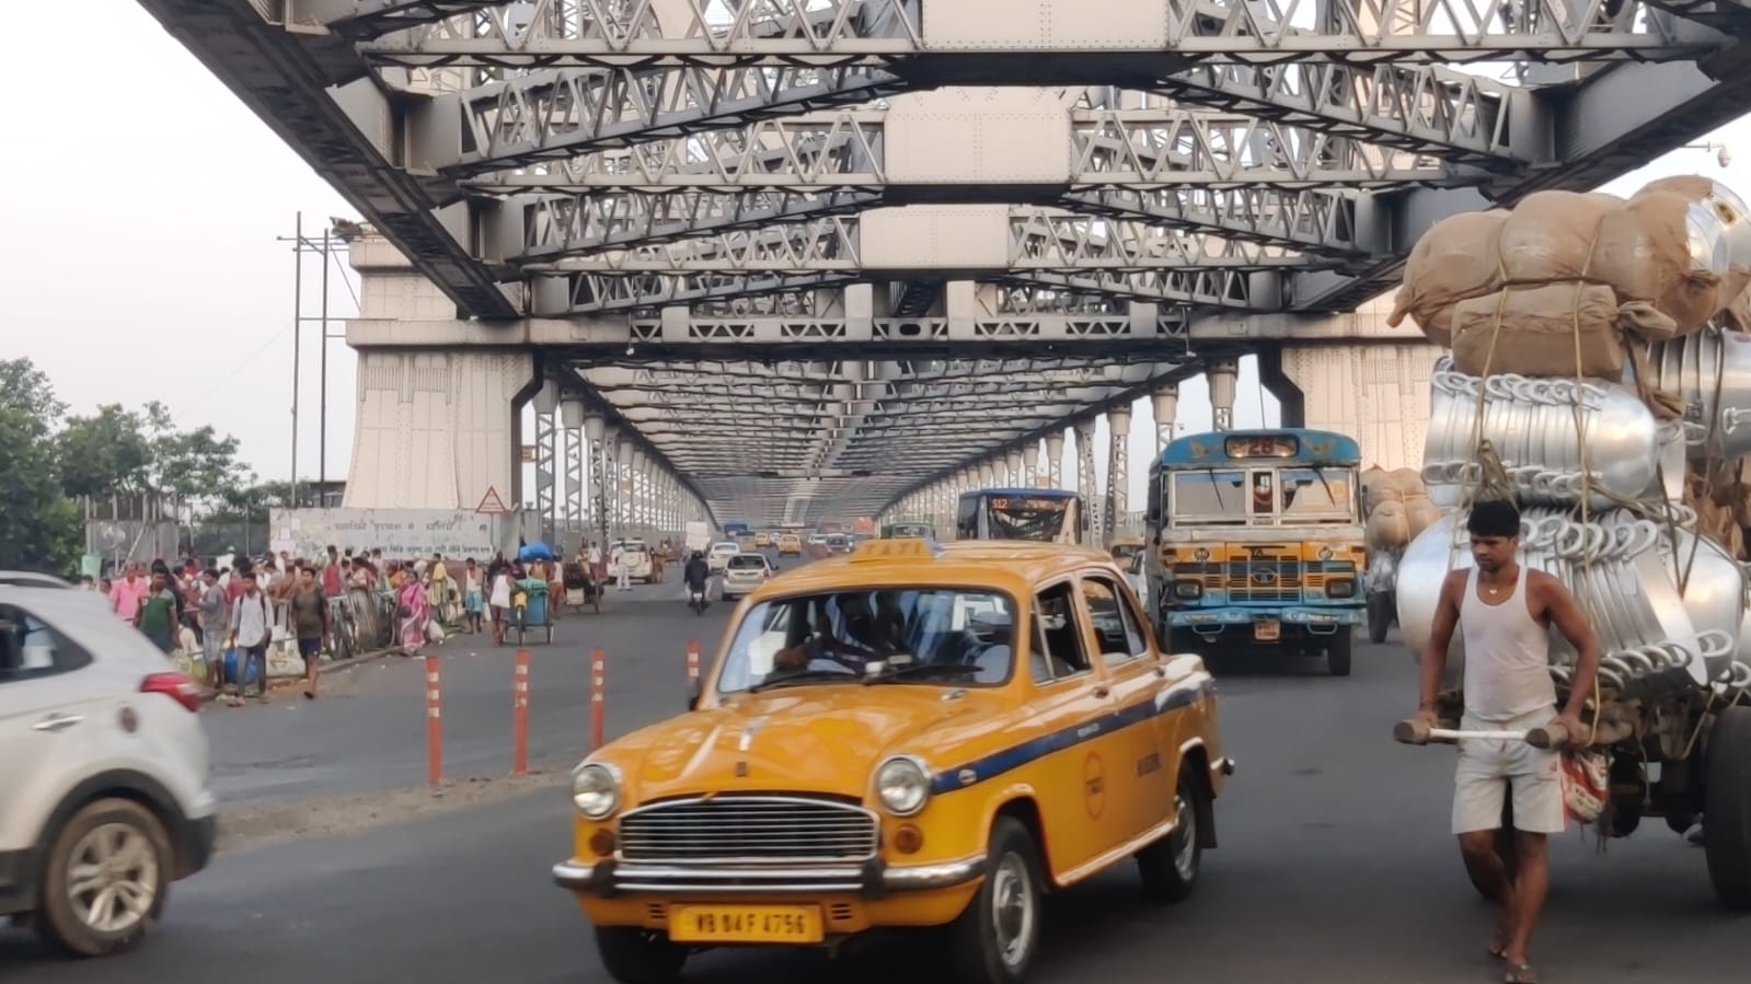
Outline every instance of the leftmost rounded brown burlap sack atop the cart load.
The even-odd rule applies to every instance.
[[[1501,287],[1497,238],[1508,212],[1460,212],[1441,219],[1411,247],[1404,285],[1392,301],[1387,324],[1397,327],[1408,313],[1429,341],[1453,341],[1453,305]]]

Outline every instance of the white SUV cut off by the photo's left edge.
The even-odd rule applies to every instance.
[[[200,707],[102,595],[0,573],[0,916],[79,956],[140,942],[212,858]]]

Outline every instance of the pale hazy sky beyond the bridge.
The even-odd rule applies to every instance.
[[[58,4],[16,4],[12,35],[67,37]],[[23,23],[19,23],[19,19]],[[165,401],[184,425],[214,424],[242,441],[263,476],[291,467],[292,235],[303,210],[320,231],[345,203],[254,114],[131,0],[88,0],[77,18],[79,58],[56,44],[23,46],[0,156],[0,285],[9,305],[0,355],[28,355],[75,413],[100,403]],[[1679,151],[1607,186],[1634,191],[1669,173],[1704,173],[1751,196],[1751,124],[1719,130],[1739,159]],[[306,261],[305,313],[320,275]],[[357,277],[331,270],[331,312],[354,310]],[[345,331],[334,324],[334,334]],[[299,473],[317,473],[319,331],[305,326]],[[329,347],[327,471],[345,478],[352,446],[354,355]],[[1180,420],[1210,424],[1208,390],[1182,387]],[[1243,366],[1236,422],[1275,422]],[[1147,460],[1147,401],[1133,413],[1131,460]],[[1105,459],[1105,436],[1100,438]],[[1105,469],[1105,466],[1101,466]],[[1133,503],[1142,469],[1133,469]],[[531,485],[532,494],[532,485]]]

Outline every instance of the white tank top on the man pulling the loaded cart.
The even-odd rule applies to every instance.
[[[1483,721],[1509,721],[1557,706],[1550,679],[1550,632],[1527,611],[1520,569],[1502,604],[1478,599],[1478,569],[1466,574],[1459,629],[1466,639],[1466,711]]]

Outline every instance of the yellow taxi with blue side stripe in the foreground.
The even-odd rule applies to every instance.
[[[1191,895],[1233,772],[1203,662],[1070,545],[872,539],[774,578],[690,706],[573,770],[553,877],[627,984],[897,926],[1014,984],[1045,893],[1135,858]]]

